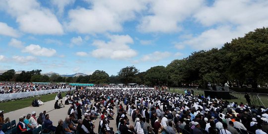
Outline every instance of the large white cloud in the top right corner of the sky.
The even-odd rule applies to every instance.
[[[218,24],[267,26],[267,0],[215,0],[211,6],[203,6],[194,17],[205,26]]]

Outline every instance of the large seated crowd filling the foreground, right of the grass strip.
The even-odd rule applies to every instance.
[[[59,120],[57,127],[49,127],[49,120],[42,122],[41,119],[37,125],[47,122],[47,128],[55,131],[55,134],[268,132],[268,109],[204,97],[200,94],[178,94],[149,88],[83,88],[68,93],[66,98],[65,102],[56,101],[58,106],[59,103],[63,106],[68,105],[66,119]],[[99,122],[95,122],[97,118],[100,118]],[[24,120],[20,119],[20,122],[22,121]],[[115,122],[117,128],[111,128],[111,122]],[[130,122],[134,125],[130,125]],[[32,125],[32,128],[37,126]],[[98,128],[98,132],[94,132],[95,127]],[[29,128],[31,130],[31,126]]]

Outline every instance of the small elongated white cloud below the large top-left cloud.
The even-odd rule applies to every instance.
[[[22,50],[22,52],[30,53],[30,54],[35,55],[35,56],[52,57],[56,54],[57,51],[55,49],[42,48],[39,45],[31,44],[29,46],[26,46]]]

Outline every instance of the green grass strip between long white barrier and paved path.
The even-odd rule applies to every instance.
[[[22,109],[22,108],[31,106],[32,101],[35,98],[37,98],[37,99],[41,98],[41,100],[43,102],[47,102],[47,101],[54,100],[56,95],[57,95],[57,93],[53,93],[53,94],[47,94],[47,95],[41,95],[41,96],[34,96],[34,97],[20,99],[20,100],[1,102],[0,103],[0,110],[4,110],[4,112],[7,113],[10,111]],[[62,96],[66,96],[66,93],[62,93]]]

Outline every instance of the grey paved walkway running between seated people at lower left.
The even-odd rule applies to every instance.
[[[64,101],[65,97],[61,100]],[[59,102],[61,101],[59,100]],[[65,120],[66,117],[68,117],[67,115],[67,111],[70,107],[70,105],[65,105],[64,108],[61,109],[54,109],[54,104],[55,104],[56,100],[52,100],[52,101],[48,101],[45,102],[44,105],[40,106],[40,107],[26,107],[23,109],[19,109],[19,110],[15,110],[9,113],[4,113],[4,117],[9,117],[10,121],[12,120],[16,120],[16,124],[18,123],[18,119],[19,117],[21,117],[22,115],[27,115],[27,114],[31,114],[33,111],[36,112],[36,116],[39,116],[39,113],[43,113],[44,110],[47,111],[47,114],[49,114],[50,120],[53,122],[53,126],[58,126],[58,121],[60,119],[62,119],[63,121]],[[124,105],[124,108],[126,108],[126,105]],[[114,113],[117,113],[117,108],[114,107]],[[117,127],[116,127],[116,116],[117,114],[114,115],[114,119],[115,120],[110,120],[110,127],[114,129],[114,132],[117,132]],[[134,125],[131,117],[129,115],[127,115],[128,118],[130,119],[130,125]],[[82,119],[84,119],[84,117],[82,117]],[[95,129],[94,132],[98,133],[98,126],[99,126],[99,121],[100,119],[97,119],[95,121]]]

